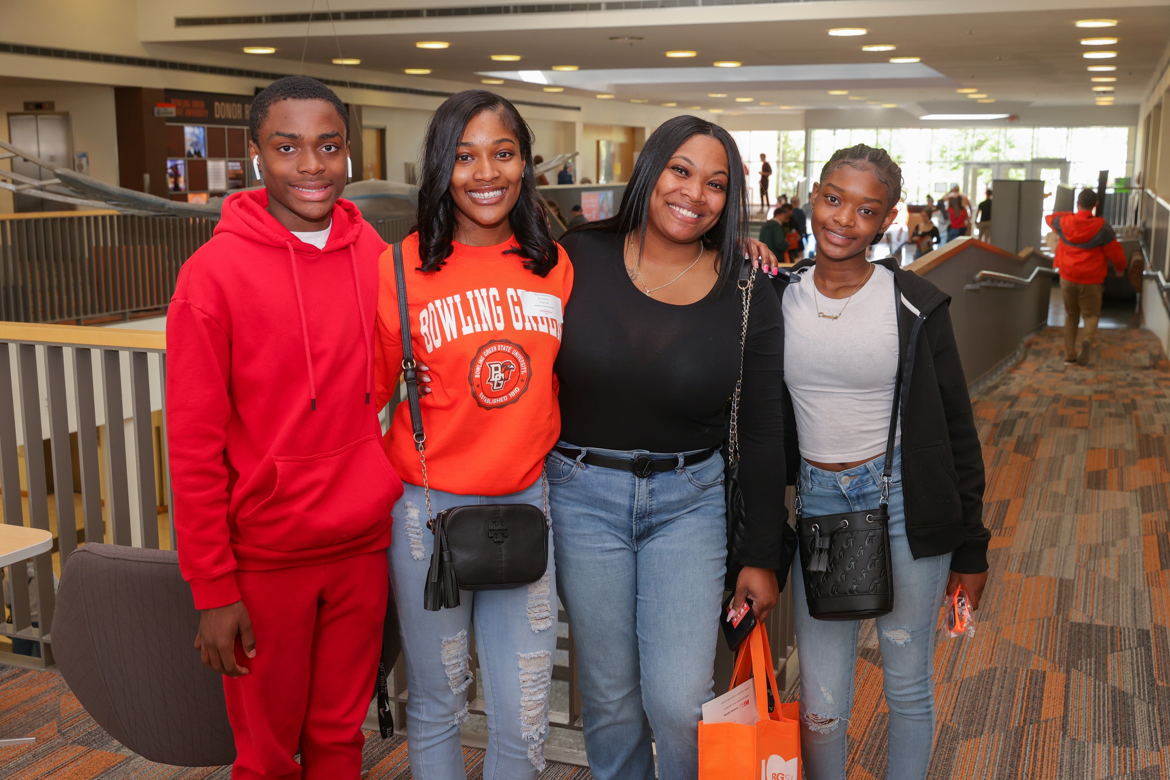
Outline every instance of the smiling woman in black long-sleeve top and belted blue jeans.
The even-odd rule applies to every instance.
[[[676,117],[618,216],[569,233],[562,441],[546,460],[559,593],[598,780],[694,780],[728,566],[723,444],[739,377],[746,192],[725,130]],[[749,269],[750,272],[750,269]],[[743,283],[748,285],[746,282]],[[783,325],[751,282],[738,415],[743,544],[732,607],[763,619],[792,546],[783,504]]]

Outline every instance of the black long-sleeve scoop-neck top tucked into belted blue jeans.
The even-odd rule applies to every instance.
[[[573,263],[573,291],[556,364],[560,439],[651,453],[722,446],[739,374],[743,304],[735,282],[693,304],[668,304],[634,287],[621,236],[585,230],[562,246]],[[783,396],[780,304],[757,275],[738,419],[749,540],[735,552],[741,566],[787,566]]]

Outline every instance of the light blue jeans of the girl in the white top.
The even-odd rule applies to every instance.
[[[951,554],[918,558],[906,539],[901,448],[894,450],[889,491],[889,540],[894,567],[894,610],[878,619],[882,682],[889,706],[888,780],[927,776],[935,739],[934,654],[938,610]],[[834,472],[800,463],[804,517],[854,512],[881,497],[882,455]],[[799,553],[798,553],[799,555]],[[798,560],[799,562],[799,560]],[[861,621],[815,620],[808,615],[804,579],[792,578],[797,647],[800,649],[800,750],[808,780],[845,780],[846,726]]]

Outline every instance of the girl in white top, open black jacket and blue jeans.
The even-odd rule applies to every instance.
[[[878,642],[889,707],[886,778],[923,780],[935,738],[940,605],[962,584],[978,607],[991,532],[950,297],[894,257],[866,261],[894,222],[901,189],[902,172],[885,150],[838,150],[813,185],[815,258],[793,267],[799,283],[773,283],[785,329],[785,463],[797,467],[789,481],[799,479],[805,517],[878,504],[901,367],[889,485],[894,610],[878,617]],[[805,775],[845,780],[860,621],[811,617],[799,571],[792,605]]]

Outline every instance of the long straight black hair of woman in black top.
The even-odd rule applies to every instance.
[[[572,229],[577,230],[605,230],[618,235],[628,235],[638,232],[639,240],[646,241],[646,222],[649,215],[651,193],[658,184],[662,171],[670,163],[670,158],[693,136],[710,136],[723,144],[723,150],[728,154],[728,198],[723,205],[723,212],[718,221],[710,230],[703,234],[702,242],[708,249],[718,253],[718,279],[715,282],[715,291],[718,292],[728,279],[739,272],[739,263],[732,258],[742,258],[745,254],[748,237],[748,182],[743,175],[743,160],[739,158],[739,147],[735,139],[723,127],[693,117],[682,115],[668,119],[658,130],[651,133],[642,146],[638,161],[634,163],[634,171],[629,174],[629,182],[626,192],[621,195],[621,206],[618,215],[599,222],[586,222]]]

